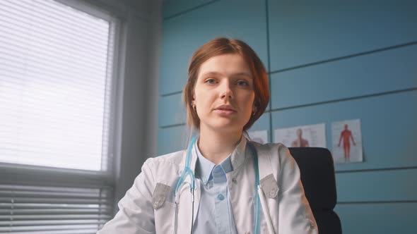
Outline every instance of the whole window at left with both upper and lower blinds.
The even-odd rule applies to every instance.
[[[112,217],[119,23],[83,4],[0,1],[0,233]]]

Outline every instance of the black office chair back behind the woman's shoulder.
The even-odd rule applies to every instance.
[[[329,149],[290,147],[291,155],[300,167],[301,182],[317,221],[320,234],[341,234],[336,206],[336,179]]]

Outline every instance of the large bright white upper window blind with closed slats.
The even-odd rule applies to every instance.
[[[114,24],[4,0],[0,35],[0,161],[109,170]]]

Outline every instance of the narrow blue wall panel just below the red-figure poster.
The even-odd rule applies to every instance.
[[[417,168],[336,173],[338,202],[416,201]]]

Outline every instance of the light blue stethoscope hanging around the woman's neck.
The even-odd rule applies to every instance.
[[[182,171],[182,174],[180,176],[180,179],[178,180],[177,187],[175,187],[175,209],[174,209],[174,233],[177,234],[177,221],[178,221],[178,201],[180,199],[180,195],[178,195],[178,191],[180,191],[182,185],[184,185],[184,180],[187,176],[191,179],[191,182],[189,183],[190,192],[192,195],[192,213],[191,213],[191,233],[193,228],[193,218],[194,218],[194,190],[196,186],[196,178],[194,176],[193,171],[191,168],[189,168],[189,164],[191,162],[191,152],[192,147],[194,147],[194,144],[196,143],[197,136],[192,137],[191,142],[189,143],[189,146],[187,148],[187,157],[185,159],[185,166],[184,171]],[[266,226],[268,228],[268,231],[270,234],[274,234],[274,228],[272,226],[271,222],[271,216],[269,216],[269,210],[266,205],[264,192],[262,191],[262,188],[259,186],[259,166],[258,166],[258,153],[255,147],[248,142],[248,146],[250,149],[252,149],[252,156],[254,159],[254,170],[255,170],[255,178],[256,178],[256,189],[255,194],[255,225],[254,225],[254,234],[259,234],[259,216],[260,216],[260,210],[259,210],[259,203],[262,206],[262,212],[264,213],[265,219],[266,219]]]

